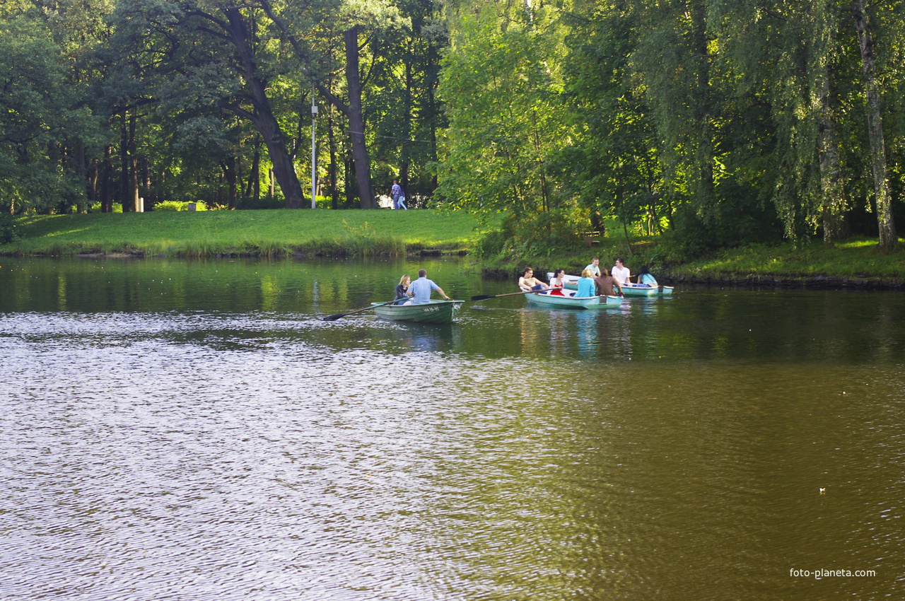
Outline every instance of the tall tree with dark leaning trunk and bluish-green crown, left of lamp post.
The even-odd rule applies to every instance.
[[[269,86],[284,73],[271,52],[266,16],[253,5],[219,0],[154,4],[120,0],[119,44],[143,49],[157,72],[155,91],[186,118],[213,104],[252,122],[262,136],[287,208],[304,206],[289,145],[271,106]]]

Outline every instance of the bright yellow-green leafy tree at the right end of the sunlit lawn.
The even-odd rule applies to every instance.
[[[439,95],[438,192],[475,212],[537,213],[559,204],[548,158],[563,143],[563,24],[555,6],[461,5]]]

